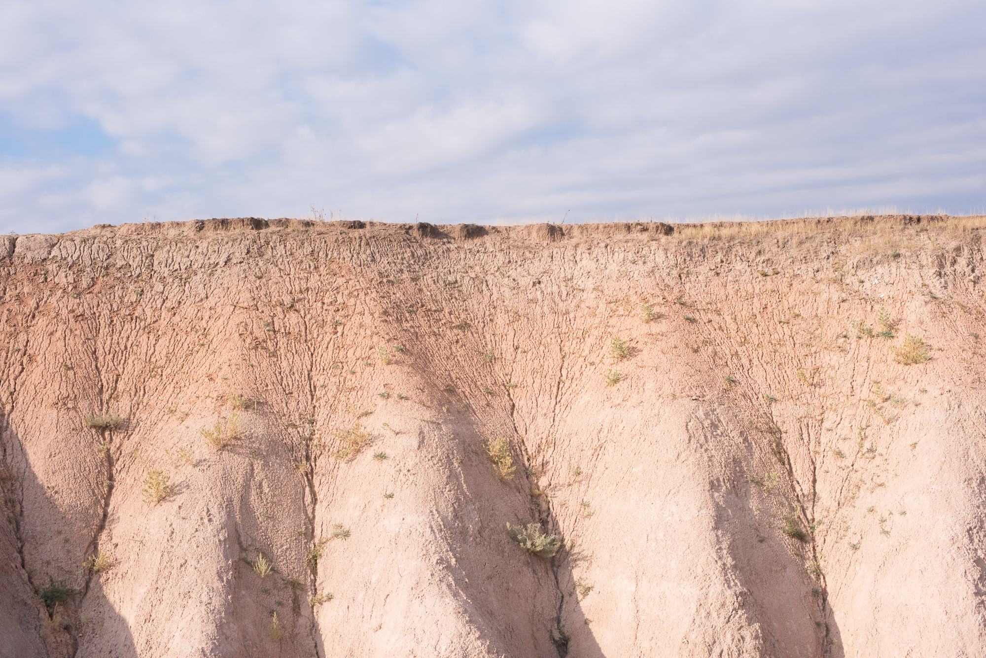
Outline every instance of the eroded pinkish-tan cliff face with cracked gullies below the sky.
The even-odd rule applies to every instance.
[[[984,224],[5,238],[0,655],[977,655]]]

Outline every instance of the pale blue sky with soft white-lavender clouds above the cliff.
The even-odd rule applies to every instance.
[[[0,231],[986,212],[986,3],[0,3]]]

